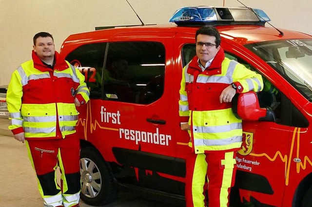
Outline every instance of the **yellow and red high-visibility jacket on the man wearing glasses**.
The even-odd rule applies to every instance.
[[[232,103],[219,101],[221,92],[232,83],[239,86],[237,92],[258,92],[263,88],[260,74],[225,58],[222,48],[204,71],[197,56],[183,68],[179,115],[181,122],[191,125],[190,146],[196,154],[240,148],[242,121],[234,116]]]

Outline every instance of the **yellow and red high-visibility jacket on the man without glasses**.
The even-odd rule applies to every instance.
[[[54,69],[32,53],[32,60],[16,69],[7,90],[7,107],[13,134],[25,138],[64,138],[76,132],[78,111],[89,101],[84,76],[55,52]]]

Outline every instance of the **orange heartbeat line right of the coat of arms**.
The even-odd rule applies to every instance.
[[[286,186],[288,186],[288,182],[289,182],[289,173],[290,173],[290,169],[291,169],[291,164],[292,164],[292,153],[294,153],[294,143],[295,143],[295,138],[296,138],[296,135],[297,135],[297,151],[296,151],[296,157],[299,158],[299,149],[300,149],[300,128],[295,128],[294,131],[293,131],[293,134],[292,134],[292,145],[291,145],[291,150],[290,150],[290,154],[287,156],[287,155],[282,155],[279,151],[277,151],[275,153],[275,155],[273,156],[273,158],[271,158],[269,155],[267,155],[266,153],[262,153],[262,154],[254,154],[254,153],[251,153],[250,155],[252,156],[265,156],[267,157],[270,161],[275,161],[275,159],[277,157],[280,157],[280,159],[285,163],[285,184]],[[300,173],[300,168],[305,170],[306,167],[307,167],[307,162],[312,166],[312,162],[311,160],[309,159],[308,156],[305,156],[304,157],[304,160],[299,162],[299,163],[296,163],[296,172],[297,173]]]

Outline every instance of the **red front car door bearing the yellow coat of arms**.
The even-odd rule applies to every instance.
[[[275,115],[275,121],[243,121],[243,143],[236,156],[238,171],[231,203],[281,206],[289,182],[296,126],[301,125],[300,115],[280,76],[274,75],[272,69],[265,68],[248,52],[227,43],[222,46],[228,58],[262,75],[264,88],[258,93],[260,106],[270,107]],[[298,121],[290,122],[291,114],[297,116]]]

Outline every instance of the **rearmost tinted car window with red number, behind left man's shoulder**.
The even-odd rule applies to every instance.
[[[93,43],[78,47],[65,58],[85,76],[90,98],[102,97],[102,71],[107,43]]]

